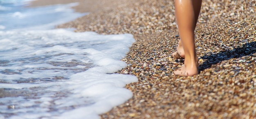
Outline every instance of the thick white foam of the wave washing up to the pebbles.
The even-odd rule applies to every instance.
[[[20,35],[12,36],[11,34]],[[0,83],[0,87],[19,90],[33,87],[46,88],[45,92],[39,96],[40,99],[25,99],[25,101],[22,101],[24,99],[13,99],[16,100],[16,102],[13,102],[14,105],[23,108],[12,111],[20,114],[20,118],[30,118],[31,115],[31,118],[43,116],[53,105],[50,101],[54,101],[56,105],[54,107],[59,110],[58,112],[49,112],[47,115],[55,116],[56,118],[67,118],[66,115],[70,117],[70,114],[75,112],[80,113],[80,115],[72,115],[72,118],[97,117],[97,115],[109,111],[113,106],[124,103],[132,97],[132,93],[123,87],[128,83],[137,81],[137,77],[124,74],[106,74],[126,67],[126,63],[120,61],[120,59],[125,56],[126,52],[128,52],[128,47],[135,41],[130,34],[98,35],[94,32],[74,33],[64,29],[54,29],[24,32],[2,31],[0,36],[3,38],[0,39],[0,42],[9,43],[7,50],[2,48],[0,51],[2,52],[0,54],[1,61],[11,61],[8,64],[13,64],[0,67],[0,69],[8,69],[14,73],[0,74],[0,79],[9,81],[9,84]],[[27,38],[27,36],[30,38]],[[24,38],[34,41],[23,40]],[[48,43],[49,40],[51,43]],[[94,41],[99,44],[95,44]],[[81,47],[78,47],[77,43]],[[51,47],[42,47],[49,44],[51,44]],[[91,44],[94,44],[94,46]],[[117,45],[123,47],[115,47]],[[56,55],[64,53],[66,54]],[[34,58],[43,59],[33,61]],[[93,63],[98,66],[84,72],[74,72],[74,70],[82,66],[62,67],[49,63],[68,63],[73,60]],[[41,70],[42,68],[47,69]],[[70,72],[64,70],[67,68]],[[57,82],[35,81],[20,84],[13,82],[13,80],[17,79],[46,79],[54,76],[64,76],[68,80],[57,80]],[[57,92],[67,93],[67,95],[60,99],[56,99],[56,97],[50,98],[52,94]],[[20,101],[24,103],[20,104]],[[41,101],[42,103],[38,105],[35,103],[36,101]],[[38,106],[38,109],[28,108],[35,105]],[[72,110],[61,110],[62,108],[80,105],[84,106]],[[28,111],[32,111],[33,114],[27,113]],[[85,114],[84,111],[89,112]],[[23,113],[25,112],[26,114],[24,115]]]

